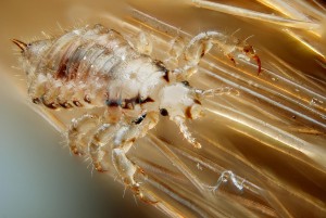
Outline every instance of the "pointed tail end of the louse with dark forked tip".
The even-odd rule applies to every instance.
[[[25,43],[17,39],[12,39],[20,49],[21,49],[21,62],[23,68],[26,69],[27,75],[32,75],[36,67],[36,63],[39,62],[39,59],[45,56],[45,53],[49,50],[52,42],[51,40],[38,40],[30,43]]]

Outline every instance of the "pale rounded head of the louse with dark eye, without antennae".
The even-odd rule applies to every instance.
[[[174,82],[160,92],[160,113],[171,119],[197,119],[203,115],[203,107],[196,91],[188,81]]]

